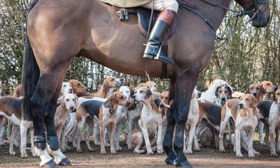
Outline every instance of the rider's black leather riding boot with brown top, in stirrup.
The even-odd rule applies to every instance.
[[[159,59],[161,62],[173,64],[174,60],[167,57],[162,52],[162,40],[169,26],[172,24],[176,13],[173,10],[162,10],[158,16],[158,20],[151,31],[146,44],[144,58]]]

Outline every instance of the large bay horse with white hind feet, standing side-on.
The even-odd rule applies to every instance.
[[[168,40],[169,101],[167,134],[163,142],[167,164],[191,167],[183,155],[183,134],[190,98],[200,72],[214,52],[216,30],[232,0],[193,0],[212,28],[195,13],[179,10],[176,31]],[[235,0],[255,27],[269,22],[268,0]],[[27,16],[27,45],[23,67],[24,117],[34,123],[35,151],[40,165],[71,165],[59,150],[54,116],[62,81],[76,56],[92,59],[115,71],[158,78],[162,64],[142,58],[145,37],[137,29],[137,16],[120,22],[116,8],[97,0],[35,0]],[[174,142],[172,137],[176,127]],[[52,160],[48,151],[55,157]]]

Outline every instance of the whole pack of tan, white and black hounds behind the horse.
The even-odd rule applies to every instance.
[[[75,148],[77,153],[82,153],[81,141],[85,141],[88,151],[94,151],[90,145],[93,137],[102,155],[106,154],[106,148],[114,155],[123,150],[120,137],[125,134],[127,148],[134,153],[164,153],[166,113],[173,102],[168,91],[158,92],[158,85],[153,81],[132,88],[123,85],[123,79],[113,77],[106,78],[95,93],[86,90],[78,80],[62,84],[55,113],[62,152]],[[269,94],[272,100],[268,100]],[[36,157],[33,124],[22,116],[22,85],[5,96],[0,81],[0,95],[0,145],[9,144],[10,155],[16,155],[14,146],[20,147],[21,157],[28,158],[27,134],[30,132],[31,153]],[[257,126],[260,144],[267,145],[270,154],[276,157],[280,153],[280,90],[276,85],[265,80],[249,85],[245,92],[235,92],[227,82],[216,79],[206,92],[196,88],[193,91],[183,151],[192,154],[213,143],[225,152],[228,137],[237,157],[243,157],[241,148],[244,148],[248,157],[254,158],[260,155],[253,148]]]

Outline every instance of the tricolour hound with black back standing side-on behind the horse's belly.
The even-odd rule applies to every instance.
[[[113,92],[111,96],[105,101],[98,100],[90,100],[83,102],[78,106],[76,117],[78,122],[78,141],[77,141],[77,152],[82,152],[80,149],[80,134],[83,133],[83,126],[85,125],[85,120],[87,116],[94,118],[94,123],[97,123],[100,127],[100,146],[101,146],[101,154],[106,154],[105,151],[105,129],[109,127],[110,132],[110,146],[111,146],[111,154],[116,154],[115,148],[115,134],[116,134],[116,116],[118,106],[128,106],[130,104],[129,101],[125,98],[125,95],[121,92]],[[97,118],[98,116],[98,118]],[[93,130],[88,130],[88,132],[92,132]],[[94,151],[93,148],[89,148],[89,144],[87,144],[87,148],[90,151]]]

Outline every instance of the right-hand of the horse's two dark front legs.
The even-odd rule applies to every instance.
[[[190,110],[190,99],[193,94],[193,89],[197,83],[199,73],[192,71],[191,73],[184,72],[176,78],[176,101],[175,101],[175,117],[176,117],[176,132],[174,137],[174,151],[176,151],[177,159],[176,166],[191,167],[186,156],[183,153],[183,137],[185,134],[185,125],[188,120]]]

